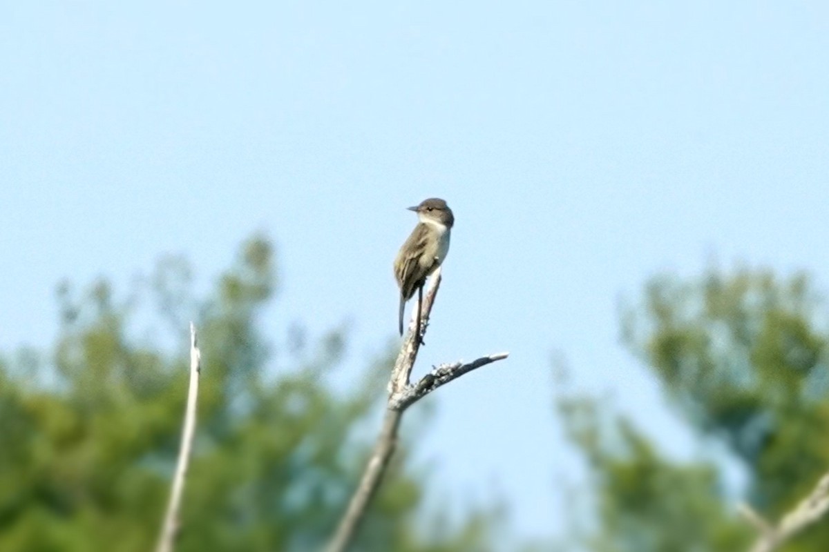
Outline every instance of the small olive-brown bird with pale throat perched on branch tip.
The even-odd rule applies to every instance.
[[[395,278],[400,287],[398,329],[403,335],[403,312],[406,301],[418,292],[417,336],[420,340],[420,310],[423,305],[423,286],[426,278],[437,270],[449,252],[449,238],[455,217],[444,199],[424,199],[419,205],[407,208],[418,216],[418,224],[400,247],[395,257]],[[420,343],[423,343],[420,340]]]

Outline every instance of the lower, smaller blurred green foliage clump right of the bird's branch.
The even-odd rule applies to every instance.
[[[561,396],[558,408],[598,490],[599,528],[582,545],[597,552],[746,548],[750,531],[726,515],[714,466],[663,457],[628,420],[610,415],[594,398]]]

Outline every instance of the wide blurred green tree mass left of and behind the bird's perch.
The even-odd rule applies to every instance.
[[[274,288],[265,238],[245,243],[206,300],[193,298],[181,259],[120,302],[106,281],[80,299],[61,286],[56,346],[0,361],[0,550],[152,550],[182,425],[188,319],[203,372],[177,550],[320,548],[363,468],[369,443],[355,429],[391,359],[372,362],[351,394],[333,391],[342,330],[308,353],[293,329],[290,353],[275,355],[258,329]],[[158,325],[148,302],[175,332],[167,347],[134,337],[140,319]],[[419,512],[424,481],[405,451],[396,458],[355,550],[487,550],[497,514],[432,530]]]

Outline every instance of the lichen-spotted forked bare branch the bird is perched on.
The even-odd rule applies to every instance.
[[[422,334],[425,334],[426,329],[429,327],[429,314],[432,312],[432,305],[434,304],[434,297],[437,295],[440,287],[440,280],[440,268],[438,268],[431,277],[429,290],[424,296],[423,308],[421,310],[422,332],[420,333]],[[416,308],[420,308],[420,305],[417,305]],[[400,347],[400,353],[397,355],[395,367],[391,370],[389,401],[385,410],[383,427],[380,435],[377,437],[374,449],[371,451],[371,457],[366,464],[366,469],[362,474],[360,484],[357,485],[354,494],[351,496],[351,501],[348,503],[346,512],[343,514],[337,530],[328,544],[327,552],[344,552],[347,550],[348,545],[351,544],[351,541],[354,540],[356,530],[360,526],[360,522],[366,513],[371,498],[374,497],[377,489],[380,487],[385,469],[388,467],[391,456],[395,452],[397,433],[400,429],[400,419],[405,409],[439,386],[443,386],[453,379],[463,376],[467,372],[472,372],[475,368],[501,360],[502,358],[507,358],[507,353],[498,353],[490,355],[489,357],[478,358],[478,360],[469,362],[468,364],[463,364],[462,362],[443,364],[440,367],[434,368],[431,374],[422,377],[413,386],[410,384],[409,378],[412,367],[414,367],[414,360],[417,358],[417,353],[420,348],[420,340],[417,338],[419,329],[415,328],[417,324],[416,314],[417,311],[412,316],[409,331],[403,340],[403,345]]]

